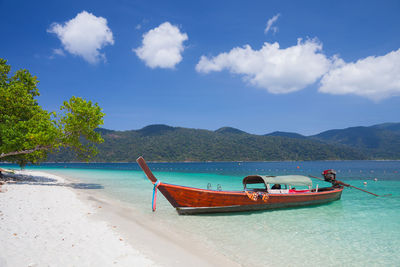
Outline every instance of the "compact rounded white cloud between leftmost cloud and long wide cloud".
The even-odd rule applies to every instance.
[[[164,22],[143,34],[142,46],[133,51],[150,68],[174,68],[182,60],[183,42],[187,39],[177,26]]]

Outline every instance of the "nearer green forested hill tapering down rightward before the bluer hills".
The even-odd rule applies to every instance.
[[[367,159],[359,151],[318,140],[248,134],[234,128],[217,131],[150,125],[140,130],[99,129],[105,142],[97,162],[151,161],[275,161]],[[49,161],[74,161],[68,151]]]

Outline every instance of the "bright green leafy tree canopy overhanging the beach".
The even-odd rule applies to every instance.
[[[73,96],[59,114],[48,112],[36,99],[37,78],[24,69],[14,75],[10,71],[7,60],[0,58],[0,160],[23,166],[61,147],[86,160],[97,153],[95,143],[103,139],[94,130],[104,116],[97,103]]]

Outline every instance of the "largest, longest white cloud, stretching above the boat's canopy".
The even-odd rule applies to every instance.
[[[313,84],[329,70],[334,59],[328,59],[321,51],[322,44],[315,39],[298,39],[297,45],[285,49],[278,43],[264,43],[260,50],[246,45],[213,58],[202,56],[196,70],[209,73],[228,69],[244,75],[252,85],[284,94]]]

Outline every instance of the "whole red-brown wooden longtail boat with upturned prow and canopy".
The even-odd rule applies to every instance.
[[[157,189],[165,196],[179,214],[255,211],[318,205],[340,199],[343,186],[332,183],[330,187],[312,188],[307,176],[261,176],[250,175],[243,179],[243,191],[200,189],[163,183],[153,175],[145,160],[137,163]],[[257,185],[254,187],[254,185]],[[296,190],[294,186],[307,186]],[[251,187],[251,188],[249,188]]]

